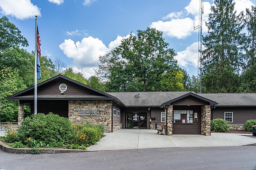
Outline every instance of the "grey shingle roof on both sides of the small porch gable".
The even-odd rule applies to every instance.
[[[107,93],[117,97],[126,106],[158,107],[169,100],[189,93],[189,91]],[[141,97],[135,97],[137,93],[140,93]],[[217,102],[216,106],[256,106],[256,93],[209,93],[197,95]]]

